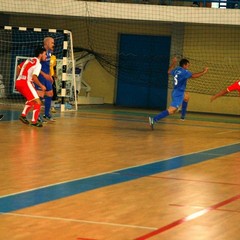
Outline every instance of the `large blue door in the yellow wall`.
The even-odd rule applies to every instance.
[[[165,109],[171,37],[120,35],[116,105]]]

